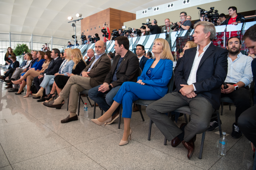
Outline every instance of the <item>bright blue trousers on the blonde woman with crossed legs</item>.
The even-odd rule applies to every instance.
[[[114,97],[116,102],[123,105],[122,117],[131,118],[133,102],[139,98],[143,100],[159,100],[162,97],[154,92],[152,86],[124,82]]]

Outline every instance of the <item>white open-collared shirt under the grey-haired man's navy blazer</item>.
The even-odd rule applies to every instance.
[[[193,85],[194,87],[194,91],[197,91],[196,87],[194,86],[193,83],[197,82],[197,70],[198,70],[198,66],[199,66],[199,63],[204,55],[204,52],[206,51],[206,49],[209,47],[209,45],[211,44],[211,42],[206,45],[203,49],[203,52],[201,53],[201,55],[199,56],[199,45],[197,45],[197,53],[196,53],[196,56],[194,58],[194,62],[193,62],[193,65],[192,65],[192,68],[191,68],[191,72],[190,72],[190,76],[188,77],[187,79],[187,84],[188,85]]]

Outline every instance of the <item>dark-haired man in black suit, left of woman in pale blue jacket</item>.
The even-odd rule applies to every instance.
[[[43,82],[43,78],[45,75],[54,75],[55,73],[59,72],[59,67],[62,64],[63,60],[60,58],[60,51],[59,49],[52,49],[51,58],[53,58],[52,61],[50,61],[48,68],[45,69],[44,72],[40,73],[40,76],[37,76],[34,78],[34,83],[36,86],[37,91],[40,90],[40,84]],[[37,100],[38,102],[45,101],[45,90],[43,90],[43,96],[40,100]],[[38,98],[38,97],[33,97]]]

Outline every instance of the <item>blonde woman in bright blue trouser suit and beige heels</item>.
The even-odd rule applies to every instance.
[[[140,99],[159,100],[168,91],[168,83],[173,72],[173,55],[168,42],[162,38],[154,40],[152,48],[153,59],[147,60],[137,83],[124,82],[114,97],[114,102],[109,110],[98,119],[92,119],[97,125],[111,121],[111,115],[121,103],[123,105],[124,131],[120,146],[128,144],[131,135],[130,118],[132,104]]]

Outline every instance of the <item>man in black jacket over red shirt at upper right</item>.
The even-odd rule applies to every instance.
[[[244,16],[237,13],[236,7],[229,7],[228,14],[230,17],[223,22],[223,25],[237,25],[238,23],[245,22]]]

